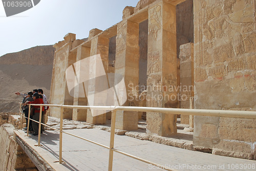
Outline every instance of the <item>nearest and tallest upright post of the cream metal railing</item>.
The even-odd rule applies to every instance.
[[[115,139],[115,125],[116,125],[116,110],[112,111],[111,116],[111,133],[110,133],[110,154],[109,154],[109,171],[112,171],[113,167],[113,149]]]

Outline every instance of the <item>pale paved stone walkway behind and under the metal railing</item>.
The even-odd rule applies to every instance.
[[[110,133],[99,129],[74,129],[65,130],[65,132],[107,146],[110,144]],[[107,148],[63,134],[62,160],[64,163],[59,164],[56,162],[59,155],[58,132],[45,131],[41,135],[42,146],[35,146],[38,139],[36,136],[26,137],[25,132],[21,130],[16,130],[15,134],[32,147],[54,170],[108,170],[109,149]],[[125,153],[176,170],[256,170],[256,161],[254,160],[189,151],[128,136],[115,135],[114,147]],[[251,169],[248,169],[250,166]],[[113,170],[163,169],[114,152]]]

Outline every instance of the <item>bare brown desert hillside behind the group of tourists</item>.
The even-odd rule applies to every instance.
[[[52,45],[37,46],[0,57],[0,112],[18,112],[22,96],[41,88],[49,97],[55,49]]]

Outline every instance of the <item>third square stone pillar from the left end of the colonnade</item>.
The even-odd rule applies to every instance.
[[[100,54],[101,60],[105,71],[108,71],[109,65],[109,39],[101,36],[97,36],[91,41],[91,52],[90,56]],[[97,73],[97,68],[92,69],[92,73],[95,75]],[[91,76],[93,76],[91,75]],[[97,79],[95,79],[97,81]],[[90,83],[89,83],[90,84]],[[91,84],[97,84],[97,82],[91,82]],[[89,92],[95,91],[95,86],[89,86]],[[106,105],[106,104],[102,104]],[[93,117],[91,110],[87,110],[87,122],[92,124],[104,124],[106,122],[106,114],[98,115]]]

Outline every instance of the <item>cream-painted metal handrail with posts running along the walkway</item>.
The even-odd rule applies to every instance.
[[[226,110],[202,110],[202,109],[175,109],[175,108],[148,108],[148,107],[134,107],[134,106],[82,106],[82,105],[61,105],[61,104],[29,104],[29,116],[26,117],[28,120],[30,120],[30,108],[31,105],[36,105],[40,106],[40,115],[39,115],[39,122],[33,121],[39,123],[39,129],[38,129],[38,146],[40,146],[40,129],[41,129],[41,124],[45,125],[47,127],[50,127],[54,131],[59,132],[59,163],[62,163],[62,133],[80,138],[82,140],[86,140],[88,142],[94,143],[96,145],[102,146],[104,148],[108,148],[109,151],[109,170],[112,170],[113,166],[113,152],[117,152],[120,154],[123,154],[125,156],[134,158],[136,160],[143,161],[148,164],[152,164],[155,166],[159,166],[161,168],[164,168],[166,170],[174,170],[174,169],[169,169],[163,165],[147,161],[145,159],[127,154],[125,152],[122,152],[118,149],[114,148],[114,136],[115,136],[115,122],[116,122],[116,111],[137,111],[137,112],[155,112],[155,113],[166,113],[166,114],[180,114],[180,115],[194,115],[194,116],[214,116],[214,117],[232,117],[232,118],[247,118],[247,119],[256,119],[256,111],[226,111]],[[52,106],[52,107],[58,107],[61,108],[60,110],[60,129],[54,129],[53,127],[41,123],[41,113],[42,113],[42,106]],[[79,136],[76,136],[71,133],[67,133],[65,131],[62,131],[62,121],[63,121],[63,109],[64,108],[69,108],[69,109],[91,109],[91,110],[110,110],[112,111],[112,118],[111,118],[111,137],[110,137],[110,146],[106,146],[94,141],[91,141],[86,138],[82,138]],[[20,109],[21,109],[21,104],[20,104]],[[23,114],[20,111],[23,119]],[[22,124],[21,124],[22,125]],[[20,129],[22,126],[20,126]],[[27,128],[27,136],[29,136],[29,121],[28,121],[28,128]]]

